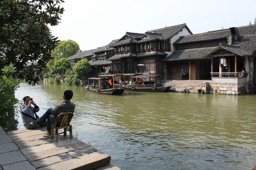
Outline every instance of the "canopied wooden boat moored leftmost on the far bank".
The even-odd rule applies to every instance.
[[[125,89],[123,87],[115,87],[114,83],[112,83],[112,86],[108,84],[111,78],[99,76],[100,77],[88,79],[88,86],[86,87],[88,91],[107,95],[121,95],[124,92]]]

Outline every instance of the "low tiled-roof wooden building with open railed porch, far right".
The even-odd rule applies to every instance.
[[[236,74],[246,68],[253,80],[256,56],[256,25],[233,27],[180,37],[175,51],[162,59],[166,79],[180,79],[181,69],[189,70],[190,80],[210,80],[211,73]]]

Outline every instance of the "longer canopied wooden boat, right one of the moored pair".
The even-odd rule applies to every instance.
[[[124,87],[127,91],[148,91],[148,92],[167,92],[171,86],[160,87],[156,79],[161,75],[133,75],[130,81],[121,84],[115,84],[118,87]]]

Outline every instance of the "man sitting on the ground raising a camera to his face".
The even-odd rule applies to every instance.
[[[24,104],[20,106],[20,113],[24,127],[26,129],[35,129],[37,127],[31,125],[30,123],[39,119],[39,116],[36,113],[40,110],[40,108],[29,96],[25,96],[23,98],[23,102]],[[46,122],[43,122],[43,125],[46,125]]]

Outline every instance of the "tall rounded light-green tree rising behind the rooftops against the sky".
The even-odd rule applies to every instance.
[[[79,45],[73,40],[60,41],[57,47],[52,51],[52,57],[68,58],[79,52]]]

